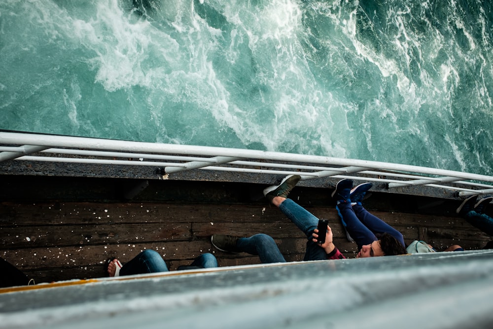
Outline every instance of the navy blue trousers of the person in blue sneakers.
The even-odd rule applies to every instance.
[[[350,203],[340,203],[336,208],[349,235],[351,235],[354,242],[356,242],[358,249],[378,240],[375,234],[386,232],[396,238],[403,247],[406,246],[404,238],[399,231],[382,219],[370,214],[363,206],[357,204],[351,206]]]

